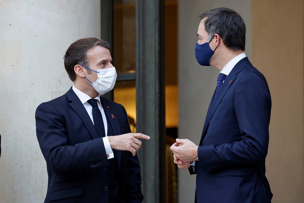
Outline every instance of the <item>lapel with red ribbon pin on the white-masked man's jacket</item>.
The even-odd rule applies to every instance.
[[[108,118],[109,123],[111,124],[112,130],[114,135],[120,135],[121,131],[120,131],[120,126],[116,117],[116,114],[113,110],[113,107],[111,106],[111,104],[109,104],[109,102],[106,99],[103,99],[102,97],[100,97],[100,101],[101,101],[101,105],[102,108],[105,111],[105,116]],[[120,163],[121,163],[121,151],[120,150],[116,150],[116,160],[117,160],[117,164],[118,164],[118,168],[120,170]]]

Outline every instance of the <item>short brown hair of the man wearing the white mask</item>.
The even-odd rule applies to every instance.
[[[87,52],[95,46],[102,46],[107,49],[110,48],[108,42],[100,40],[95,37],[83,38],[75,41],[70,45],[64,55],[64,67],[69,75],[69,78],[74,82],[76,79],[76,73],[74,67],[77,64],[81,64],[89,68]]]

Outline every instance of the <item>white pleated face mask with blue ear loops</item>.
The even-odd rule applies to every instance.
[[[82,67],[85,67],[83,65],[81,65]],[[85,67],[87,68],[87,67]],[[87,68],[91,71],[94,71],[90,68]],[[97,69],[97,80],[95,82],[91,82],[90,80],[88,80],[89,82],[91,82],[92,86],[94,87],[94,89],[101,95],[111,91],[115,85],[116,82],[116,78],[117,78],[117,73],[116,73],[116,69],[115,67],[112,68],[105,68],[105,69]]]

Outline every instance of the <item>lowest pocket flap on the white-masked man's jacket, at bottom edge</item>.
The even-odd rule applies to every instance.
[[[49,201],[54,201],[63,198],[70,198],[82,195],[82,187],[68,187],[60,190],[55,190],[50,193]]]

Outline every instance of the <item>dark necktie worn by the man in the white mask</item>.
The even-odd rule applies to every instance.
[[[102,115],[97,105],[98,100],[89,99],[88,103],[92,106],[92,114],[95,129],[100,137],[105,137],[105,125],[103,124]]]

